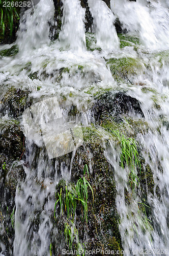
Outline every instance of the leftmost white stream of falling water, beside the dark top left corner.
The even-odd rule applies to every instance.
[[[49,44],[49,23],[53,23],[54,5],[51,0],[41,0],[24,12],[20,20],[17,44],[20,51],[27,52],[43,44]]]

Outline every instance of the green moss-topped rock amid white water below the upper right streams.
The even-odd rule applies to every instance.
[[[145,69],[139,58],[110,58],[106,61],[115,80],[129,80]]]

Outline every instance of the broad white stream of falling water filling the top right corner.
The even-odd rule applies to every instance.
[[[111,0],[111,10],[124,29],[140,37],[152,50],[168,47],[168,10],[163,3],[147,1],[129,2]]]

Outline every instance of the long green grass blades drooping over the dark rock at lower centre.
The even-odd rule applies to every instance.
[[[86,174],[87,172],[87,174]],[[60,189],[60,193],[56,195],[56,202],[54,204],[54,220],[57,218],[57,205],[60,206],[60,216],[66,214],[66,223],[64,228],[65,239],[72,248],[72,243],[76,240],[77,247],[81,247],[78,239],[78,230],[74,224],[75,212],[77,205],[81,207],[81,221],[88,222],[88,189],[90,188],[94,200],[93,189],[90,183],[86,180],[86,175],[89,176],[88,166],[85,165],[83,169],[83,177],[79,178],[76,185],[69,184]]]

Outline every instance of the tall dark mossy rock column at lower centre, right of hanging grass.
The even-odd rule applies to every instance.
[[[99,236],[101,243],[107,245],[107,240],[114,237],[115,243],[112,244],[111,249],[116,250],[122,248],[122,244],[118,228],[114,169],[104,156],[105,149],[102,147],[102,139],[97,130],[94,127],[83,127],[83,138],[85,143],[77,149],[72,162],[72,179],[73,181],[78,179],[85,164],[91,166],[93,171],[88,181],[93,187],[94,204],[89,191],[88,234],[92,241],[95,241],[94,243],[97,243]],[[107,233],[109,233],[108,238]],[[87,247],[90,248],[90,241]]]

